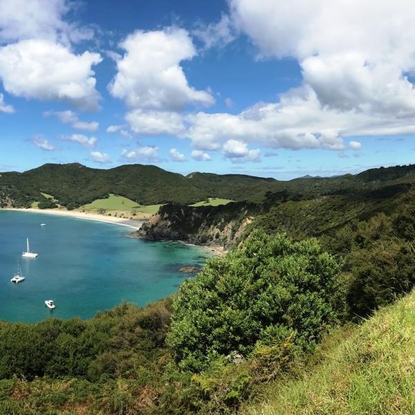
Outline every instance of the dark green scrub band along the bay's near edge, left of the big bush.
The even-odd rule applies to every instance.
[[[169,316],[167,299],[145,308],[121,304],[86,321],[0,322],[0,379],[128,374],[163,355]]]

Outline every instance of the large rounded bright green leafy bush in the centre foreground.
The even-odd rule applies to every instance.
[[[174,300],[168,343],[183,369],[217,356],[247,356],[258,340],[309,347],[336,318],[338,265],[315,239],[253,232],[243,247],[208,262]]]

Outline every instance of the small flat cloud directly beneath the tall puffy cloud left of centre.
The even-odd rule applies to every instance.
[[[176,136],[183,133],[183,116],[170,111],[142,111],[135,109],[125,116],[131,130],[139,135]]]

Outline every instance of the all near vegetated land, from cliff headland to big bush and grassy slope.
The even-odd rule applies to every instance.
[[[144,308],[2,322],[0,413],[413,412],[413,167],[358,176],[161,206],[139,236],[230,252]]]

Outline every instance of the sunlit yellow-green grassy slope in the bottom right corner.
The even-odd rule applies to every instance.
[[[342,336],[297,379],[270,385],[244,414],[415,414],[415,293]]]

